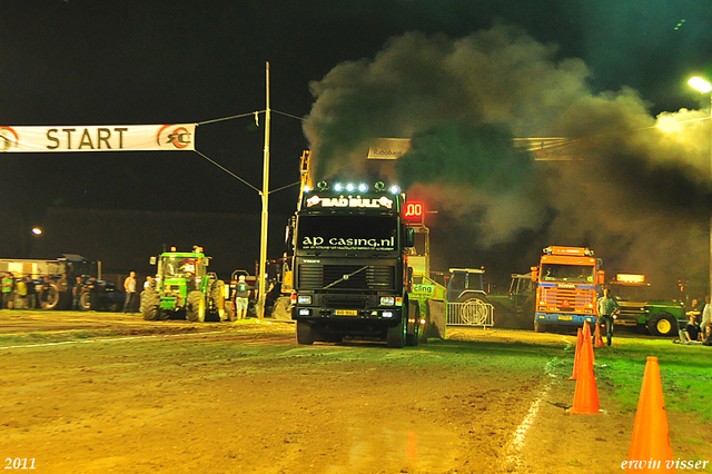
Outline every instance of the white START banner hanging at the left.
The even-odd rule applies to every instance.
[[[195,124],[0,126],[0,152],[195,150]]]

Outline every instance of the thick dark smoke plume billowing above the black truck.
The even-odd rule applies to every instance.
[[[373,60],[312,83],[304,128],[314,172],[363,175],[370,140],[411,138],[395,169],[409,196],[439,213],[428,221],[436,269],[485,265],[504,283],[542,247],[589,246],[609,276],[645,273],[669,294],[692,280],[701,296],[708,111],[653,117],[634,90],[593,93],[589,77],[583,61],[506,26],[393,38]],[[533,137],[570,140],[566,159],[536,160],[513,141]]]

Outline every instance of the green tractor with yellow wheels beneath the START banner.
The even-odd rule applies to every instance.
[[[158,264],[155,283],[141,293],[140,312],[146,320],[185,318],[190,322],[226,320],[228,287],[208,273],[210,257],[201,247],[191,253],[171,251],[151,257]]]

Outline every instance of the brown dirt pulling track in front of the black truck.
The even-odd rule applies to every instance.
[[[605,414],[568,415],[574,383],[550,364],[475,371],[466,350],[533,340],[562,356],[575,343],[448,328],[447,340],[402,350],[298,346],[288,323],[0,312],[2,467],[27,458],[38,473],[622,472],[634,413],[615,409],[612,387],[599,386]],[[676,457],[712,460],[709,425],[669,421]]]

